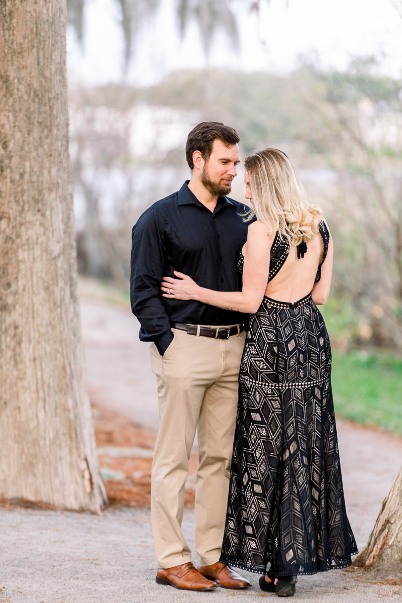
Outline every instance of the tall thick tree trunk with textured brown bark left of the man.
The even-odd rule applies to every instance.
[[[0,494],[99,511],[65,30],[66,0],[0,0]]]

